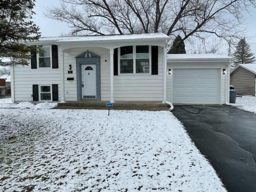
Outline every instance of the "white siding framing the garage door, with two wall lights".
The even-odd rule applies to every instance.
[[[172,101],[172,76],[173,69],[200,69],[200,68],[218,68],[220,69],[220,104],[225,104],[226,95],[226,76],[222,74],[222,69],[226,68],[225,62],[168,62],[167,63],[167,72],[168,69],[171,69],[171,75],[167,74],[166,82],[166,98],[168,101]]]

